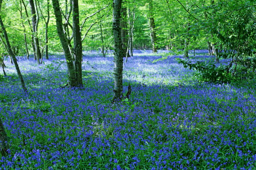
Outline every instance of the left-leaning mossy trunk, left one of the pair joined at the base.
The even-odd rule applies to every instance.
[[[77,85],[77,83],[76,83],[76,71],[75,71],[74,64],[72,62],[71,53],[69,51],[68,40],[67,40],[67,37],[65,36],[64,31],[63,31],[62,16],[61,16],[61,11],[60,11],[59,0],[52,0],[52,5],[53,5],[53,9],[54,9],[54,15],[55,15],[55,18],[56,18],[57,32],[58,32],[60,42],[61,42],[61,46],[63,48],[65,58],[66,58],[66,61],[67,61],[69,86],[70,87],[75,87]]]

